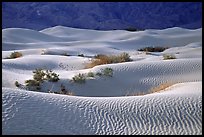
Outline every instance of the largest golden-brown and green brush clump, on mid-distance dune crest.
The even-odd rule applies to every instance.
[[[110,55],[110,56],[99,54],[95,56],[95,59],[93,59],[91,63],[87,64],[86,68],[93,68],[94,66],[97,66],[97,65],[122,63],[122,62],[128,62],[128,61],[131,61],[131,59],[129,54],[125,52],[120,55]]]

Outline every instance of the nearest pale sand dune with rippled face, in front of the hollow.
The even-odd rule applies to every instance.
[[[201,93],[201,82],[109,98],[3,88],[3,134],[201,134]]]

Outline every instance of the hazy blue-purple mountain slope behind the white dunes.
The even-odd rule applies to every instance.
[[[2,28],[200,28],[201,2],[3,2]]]

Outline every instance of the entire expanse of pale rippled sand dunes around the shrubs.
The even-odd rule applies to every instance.
[[[202,134],[202,28],[127,32],[56,26],[2,34],[3,134]],[[137,51],[146,46],[171,48],[150,55]],[[5,59],[13,51],[23,57]],[[84,69],[96,54],[122,52],[133,61]],[[169,53],[177,59],[163,60]],[[114,70],[113,77],[70,82],[78,73],[106,67]],[[14,82],[31,79],[35,68],[59,74],[59,82],[43,84],[44,92],[59,91],[63,83],[75,96],[17,89]],[[175,85],[161,93],[125,96],[165,82]]]

